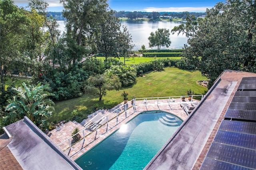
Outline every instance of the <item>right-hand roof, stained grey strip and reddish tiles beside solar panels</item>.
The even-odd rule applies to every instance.
[[[199,169],[204,165],[202,162],[207,159],[206,157],[208,155],[206,156],[206,154],[209,153],[210,146],[214,147],[212,142],[236,91],[241,87],[240,82],[243,77],[256,77],[256,74],[225,70],[202,99],[198,107],[194,109],[188,119],[184,121],[177,132],[156,156],[154,156],[145,169]],[[256,129],[256,126],[252,128]],[[252,136],[252,138],[256,140],[256,135]],[[216,147],[218,146],[215,146],[212,150],[216,150]],[[241,167],[247,166],[246,164],[239,163],[239,158],[236,158],[236,155],[232,153],[234,149],[219,149],[218,151],[225,152],[225,154],[228,152],[232,155],[232,158],[237,160],[237,162],[229,162],[229,164],[232,164],[230,167],[234,168],[237,165]],[[249,161],[248,164],[252,165],[248,165],[248,168],[256,168],[256,164],[254,164],[256,162],[255,155],[253,156],[252,154],[250,155],[252,157],[249,156],[250,159],[247,161]],[[207,162],[207,166],[202,166],[201,169],[210,168],[217,170],[222,165],[222,168],[228,167],[225,162],[227,160],[217,163],[214,160],[217,158],[221,160],[221,157],[224,156],[222,154],[212,156],[210,161]]]

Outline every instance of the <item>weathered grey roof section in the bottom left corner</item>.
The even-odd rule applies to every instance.
[[[8,149],[23,169],[81,169],[27,117],[4,130],[10,137]],[[1,159],[7,156],[1,156]]]

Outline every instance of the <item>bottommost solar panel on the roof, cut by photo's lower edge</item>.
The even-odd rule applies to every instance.
[[[246,168],[238,166],[235,164],[229,164],[227,162],[222,162],[219,160],[214,160],[210,158],[205,158],[201,170],[251,170],[251,168]]]

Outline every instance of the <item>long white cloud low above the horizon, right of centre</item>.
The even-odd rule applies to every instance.
[[[206,7],[170,7],[170,8],[155,8],[155,7],[148,7],[144,8],[143,11],[145,12],[206,12],[206,9],[213,8],[211,6]]]

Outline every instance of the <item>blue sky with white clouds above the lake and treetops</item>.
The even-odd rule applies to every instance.
[[[109,7],[116,11],[142,12],[205,12],[224,0],[108,0]],[[59,0],[46,0],[48,11],[61,12]],[[17,6],[27,6],[28,0],[14,0]]]

